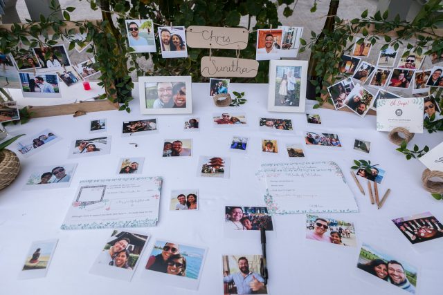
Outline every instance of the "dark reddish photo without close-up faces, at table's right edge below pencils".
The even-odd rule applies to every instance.
[[[411,244],[443,238],[442,222],[437,220],[431,212],[395,218],[392,219],[392,222]]]

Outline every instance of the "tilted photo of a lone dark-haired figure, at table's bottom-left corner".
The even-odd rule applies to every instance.
[[[48,272],[58,239],[39,240],[30,246],[19,279],[44,278]]]

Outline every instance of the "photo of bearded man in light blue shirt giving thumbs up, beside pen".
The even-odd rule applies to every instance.
[[[262,255],[224,255],[224,294],[268,294],[260,269]]]

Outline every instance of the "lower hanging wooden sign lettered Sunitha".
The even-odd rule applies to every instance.
[[[246,77],[257,75],[258,61],[235,57],[203,57],[200,73],[204,77]]]

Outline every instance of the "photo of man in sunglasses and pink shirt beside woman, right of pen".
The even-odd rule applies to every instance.
[[[336,245],[356,247],[354,223],[306,215],[306,238]]]

